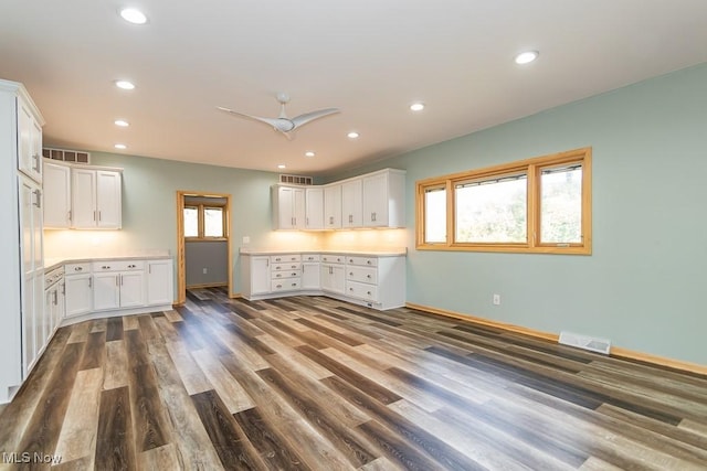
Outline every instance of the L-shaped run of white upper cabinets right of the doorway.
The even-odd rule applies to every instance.
[[[383,169],[326,185],[274,185],[275,229],[405,226],[405,171]]]

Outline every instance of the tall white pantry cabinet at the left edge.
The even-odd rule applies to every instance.
[[[42,126],[22,84],[0,81],[0,403],[44,347]]]

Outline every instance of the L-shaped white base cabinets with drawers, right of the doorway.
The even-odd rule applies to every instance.
[[[328,296],[373,309],[405,303],[405,255],[360,253],[241,254],[249,300]]]

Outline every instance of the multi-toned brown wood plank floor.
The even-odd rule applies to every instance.
[[[704,376],[410,309],[188,299],[57,331],[0,467],[707,469]]]

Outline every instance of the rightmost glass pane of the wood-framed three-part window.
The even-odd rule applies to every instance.
[[[540,243],[582,242],[582,168],[540,173]]]

